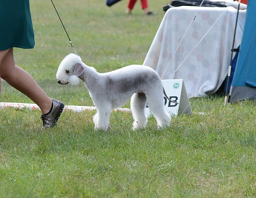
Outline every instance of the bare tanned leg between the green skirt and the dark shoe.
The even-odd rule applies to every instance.
[[[0,61],[1,78],[34,101],[42,114],[47,114],[51,109],[52,99],[46,95],[30,74],[15,65],[13,49],[0,51]]]

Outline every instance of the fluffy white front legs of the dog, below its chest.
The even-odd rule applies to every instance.
[[[93,116],[93,122],[94,122],[94,129],[102,129],[102,130],[108,130],[110,129],[109,126],[109,119],[111,114],[111,108],[96,108],[97,113]]]

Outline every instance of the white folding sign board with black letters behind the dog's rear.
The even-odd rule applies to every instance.
[[[180,103],[172,103],[164,97],[163,103],[167,112],[169,112],[171,116],[177,116],[178,113],[192,114],[183,79],[162,80],[162,83],[167,96],[169,96],[172,101]],[[146,106],[146,114],[148,116],[151,115],[148,106]]]

